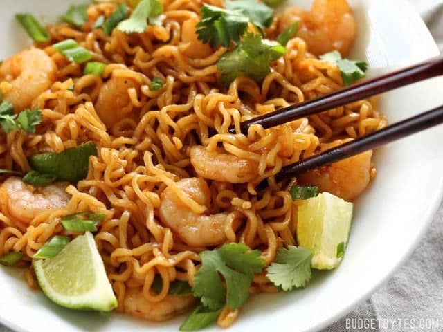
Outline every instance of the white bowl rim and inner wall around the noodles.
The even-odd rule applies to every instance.
[[[30,44],[15,22],[17,12],[55,20],[69,3],[60,0],[5,1],[0,58]],[[311,1],[293,1],[309,6]],[[351,1],[359,36],[352,57],[366,58],[371,75],[438,55],[426,26],[408,1]],[[399,11],[401,8],[401,11]],[[383,95],[380,108],[390,122],[443,104],[443,80],[428,80]],[[386,281],[410,255],[428,227],[442,197],[443,128],[435,128],[379,149],[378,175],[355,206],[350,243],[341,266],[314,273],[303,290],[251,296],[231,331],[318,331],[345,315]],[[112,315],[65,310],[28,289],[23,272],[0,268],[0,321],[19,331],[177,331],[183,317],[165,324]],[[215,331],[217,327],[208,329]]]

